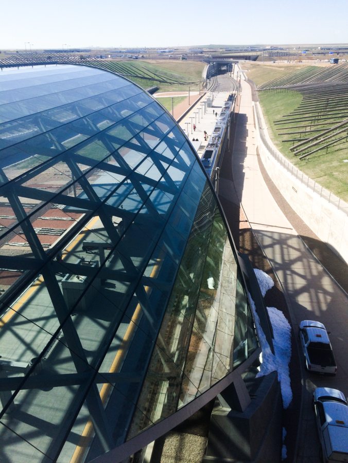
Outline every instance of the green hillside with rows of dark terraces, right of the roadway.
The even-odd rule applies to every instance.
[[[348,199],[348,64],[307,66],[257,87],[274,143],[293,164]]]

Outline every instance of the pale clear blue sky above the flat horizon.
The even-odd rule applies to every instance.
[[[348,43],[346,0],[12,0],[0,50]]]

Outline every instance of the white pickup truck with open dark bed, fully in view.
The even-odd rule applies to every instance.
[[[336,361],[325,326],[320,322],[304,320],[300,323],[299,337],[307,370],[336,375]]]

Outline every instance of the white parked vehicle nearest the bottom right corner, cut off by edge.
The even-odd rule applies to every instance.
[[[318,387],[313,395],[322,460],[348,461],[348,405],[344,394]]]

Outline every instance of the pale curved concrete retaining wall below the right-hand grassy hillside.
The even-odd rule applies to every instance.
[[[262,142],[257,118],[255,125],[259,154],[275,186],[305,224],[348,263],[348,215],[284,169]]]

